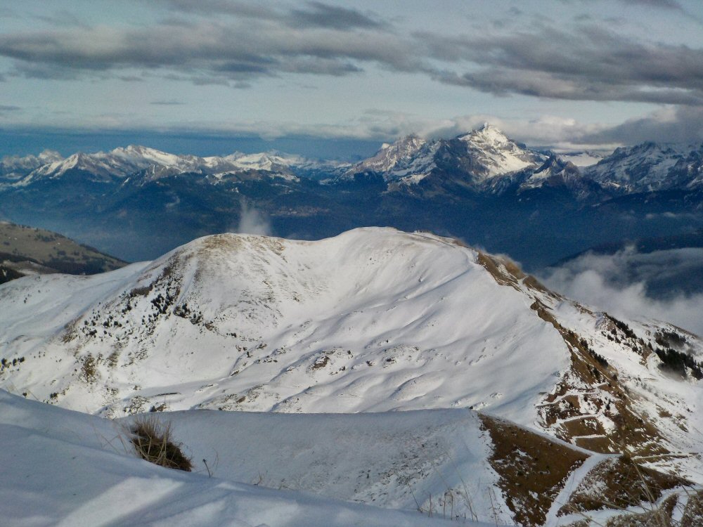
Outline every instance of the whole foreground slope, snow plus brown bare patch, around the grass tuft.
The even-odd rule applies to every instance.
[[[136,458],[129,428],[141,417],[112,421],[0,391],[3,525],[557,526],[576,516],[562,505],[591,488],[621,494],[604,464],[627,476],[617,457],[466,410],[151,414],[193,458],[186,473]],[[664,487],[683,507],[689,490]]]

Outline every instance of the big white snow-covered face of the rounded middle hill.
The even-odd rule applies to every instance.
[[[169,408],[473,405],[535,422],[567,346],[477,256],[392,229],[216,235],[100,277],[19,280],[0,289],[17,306],[0,310],[0,341],[27,361],[3,382],[113,415],[176,392]],[[506,365],[532,375],[501,380]]]

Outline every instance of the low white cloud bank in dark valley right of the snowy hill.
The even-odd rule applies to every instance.
[[[538,273],[557,292],[631,318],[655,318],[703,335],[703,248],[586,253]]]

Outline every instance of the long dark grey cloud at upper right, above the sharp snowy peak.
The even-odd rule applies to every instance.
[[[440,60],[477,65],[437,79],[496,95],[703,103],[700,49],[636,41],[606,27],[542,27],[458,38],[426,34],[424,39]]]

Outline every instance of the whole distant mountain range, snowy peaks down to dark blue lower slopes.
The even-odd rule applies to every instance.
[[[43,152],[0,163],[0,219],[136,260],[236,230],[243,211],[255,209],[286,237],[428,229],[529,268],[593,245],[703,226],[703,145],[645,143],[586,167],[571,160],[595,158],[532,149],[488,124],[449,140],[407,136],[356,164],[135,145],[65,159]]]

